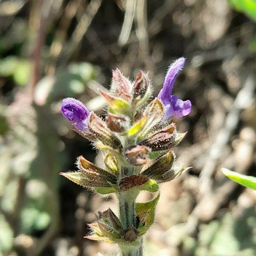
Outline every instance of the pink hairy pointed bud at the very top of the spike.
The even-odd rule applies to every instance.
[[[126,101],[131,99],[131,83],[118,68],[112,71],[111,92]]]

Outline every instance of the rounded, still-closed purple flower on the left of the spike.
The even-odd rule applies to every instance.
[[[61,103],[61,113],[72,122],[79,131],[87,129],[87,118],[90,111],[77,99],[67,98]]]

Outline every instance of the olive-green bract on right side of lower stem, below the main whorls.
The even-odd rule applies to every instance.
[[[149,227],[154,223],[155,209],[159,200],[160,194],[152,201],[136,204],[136,214],[140,219],[138,230],[140,235],[145,234]]]

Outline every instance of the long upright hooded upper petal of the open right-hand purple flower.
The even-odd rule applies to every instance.
[[[185,58],[178,58],[167,71],[163,88],[160,90],[158,94],[158,98],[163,102],[163,104],[168,104],[168,102],[171,101],[171,95],[172,95],[172,89],[174,86],[174,83],[177,79],[178,74],[186,64]]]

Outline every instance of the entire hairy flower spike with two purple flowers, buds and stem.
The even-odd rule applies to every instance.
[[[159,193],[151,201],[138,203],[140,192],[158,192],[160,183],[188,169],[176,163],[174,152],[186,132],[177,131],[169,119],[186,116],[191,110],[189,100],[172,94],[185,62],[179,58],[169,67],[163,89],[149,103],[153,88],[148,73],[140,71],[131,81],[116,69],[110,90],[99,90],[108,103],[105,118],[88,111],[76,99],[64,99],[61,105],[62,114],[76,132],[90,140],[104,159],[104,166],[99,167],[80,156],[78,170],[61,175],[95,193],[115,193],[119,201],[119,214],[111,209],[98,212],[85,237],[118,244],[122,256],[143,256],[143,235],[154,223]]]

